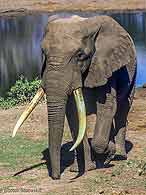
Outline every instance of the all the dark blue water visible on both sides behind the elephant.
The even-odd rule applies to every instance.
[[[64,14],[64,13],[63,13]],[[93,16],[97,13],[77,13]],[[108,14],[116,19],[133,38],[138,59],[137,86],[146,83],[146,13]],[[3,95],[20,75],[40,78],[40,43],[48,15],[20,16],[0,19],[0,95]]]

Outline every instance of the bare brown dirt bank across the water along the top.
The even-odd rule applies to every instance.
[[[145,0],[0,0],[0,16],[27,12],[146,10]]]

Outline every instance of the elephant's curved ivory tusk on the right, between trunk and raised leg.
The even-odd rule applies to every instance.
[[[84,103],[84,98],[82,94],[82,89],[76,89],[73,91],[75,102],[77,105],[77,111],[78,111],[78,117],[79,117],[79,132],[77,136],[77,140],[70,149],[70,151],[73,151],[83,140],[83,137],[85,135],[86,131],[86,108]]]

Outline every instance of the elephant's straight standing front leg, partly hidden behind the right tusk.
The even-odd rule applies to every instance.
[[[69,97],[68,99],[66,116],[73,140],[75,141],[78,134],[78,115],[73,96]],[[87,134],[85,134],[82,143],[77,147],[74,154],[74,163],[72,164],[70,171],[84,172],[96,169],[96,165],[91,160],[91,148],[88,142]]]

